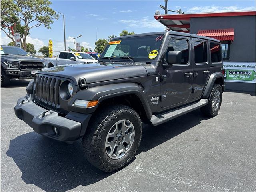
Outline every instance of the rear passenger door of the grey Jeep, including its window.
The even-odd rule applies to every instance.
[[[200,98],[210,76],[210,62],[207,40],[192,38],[192,60],[194,68],[192,98]]]

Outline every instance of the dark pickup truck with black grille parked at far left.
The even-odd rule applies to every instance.
[[[1,86],[8,86],[14,78],[33,78],[44,68],[44,60],[33,57],[22,48],[1,45]]]

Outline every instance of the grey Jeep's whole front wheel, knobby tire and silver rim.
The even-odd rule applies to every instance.
[[[92,117],[83,138],[86,158],[105,172],[118,170],[135,156],[142,136],[138,113],[125,105],[105,108]]]

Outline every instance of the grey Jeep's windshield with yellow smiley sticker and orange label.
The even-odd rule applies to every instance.
[[[164,35],[149,35],[122,38],[110,41],[101,58],[111,60],[123,60],[132,58],[134,61],[154,60],[158,55]]]

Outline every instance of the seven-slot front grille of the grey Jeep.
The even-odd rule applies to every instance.
[[[35,101],[49,108],[60,108],[59,88],[61,79],[52,76],[36,74],[35,80]]]

